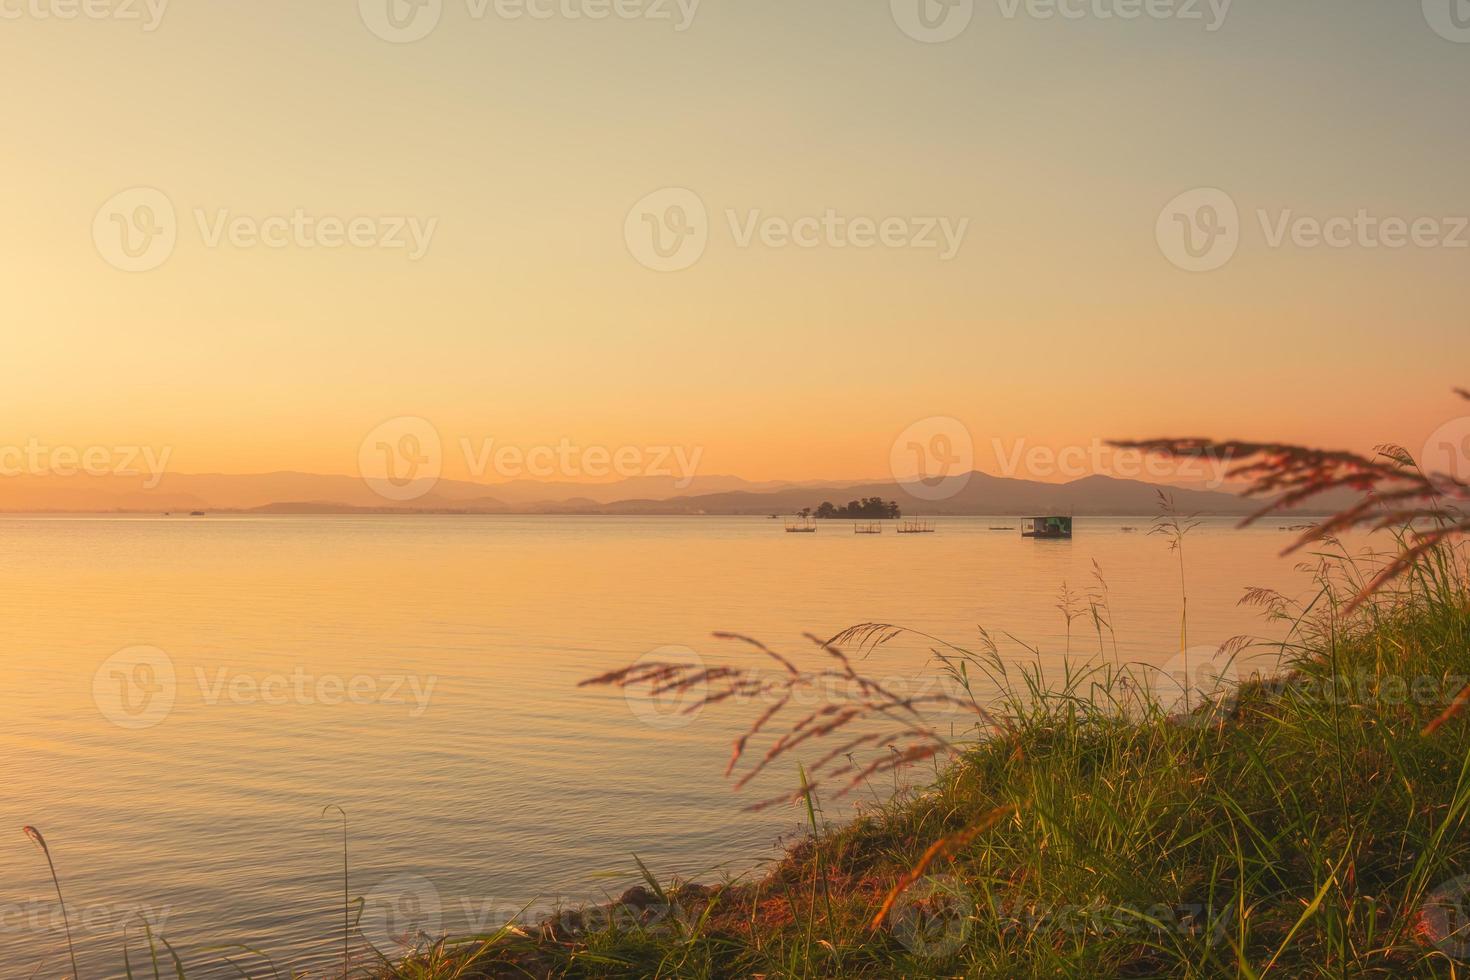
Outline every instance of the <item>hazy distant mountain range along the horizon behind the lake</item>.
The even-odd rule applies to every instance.
[[[958,482],[958,480],[957,480]],[[1111,514],[1158,513],[1158,491],[1180,511],[1239,516],[1260,507],[1230,492],[1188,489],[1142,480],[1088,476],[1070,483],[972,473],[947,500],[926,500],[914,483],[750,482],[736,476],[700,476],[686,486],[672,478],[634,478],[610,483],[514,480],[475,483],[442,479],[422,497],[395,502],[362,479],[316,473],[166,473],[144,476],[13,476],[0,479],[0,511],[7,513],[165,513],[247,511],[273,514],[473,513],[473,514],[791,514],[822,501],[845,504],[864,497],[898,501],[906,514]],[[1323,500],[1311,511],[1349,502]]]

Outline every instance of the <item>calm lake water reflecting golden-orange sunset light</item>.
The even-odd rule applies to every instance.
[[[714,630],[816,664],[804,632],[869,620],[969,645],[978,626],[1008,630],[1055,666],[1058,589],[1095,588],[1094,560],[1122,658],[1177,654],[1177,560],[1147,520],[1079,519],[1070,542],[989,530],[1017,523],[863,536],[741,517],[0,519],[0,961],[12,976],[69,970],[22,824],[50,842],[87,977],[122,976],[135,911],[191,976],[238,976],[209,951],[231,943],[282,974],[331,976],[332,804],[348,814],[351,895],[369,898],[363,930],[381,943],[394,921],[494,929],[523,907],[616,895],[637,882],[634,854],[660,876],[747,871],[800,823],[789,807],[741,810],[792,789],[794,758],[741,793],[722,779],[756,710],[676,726],[576,682],[666,646],[761,666]],[[1310,589],[1277,555],[1277,525],[1189,535],[1191,644],[1267,630],[1236,605],[1247,586]],[[1070,642],[1095,654],[1091,619]],[[864,669],[935,674],[916,644]],[[137,956],[135,921],[129,933]],[[360,937],[351,952],[366,955]]]

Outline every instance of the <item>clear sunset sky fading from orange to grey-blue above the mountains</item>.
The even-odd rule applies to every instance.
[[[0,445],[1417,450],[1470,414],[1449,3],[0,0]]]

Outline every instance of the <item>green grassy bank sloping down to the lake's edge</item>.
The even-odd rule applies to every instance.
[[[1289,624],[1270,669],[1185,710],[1105,655],[1042,683],[939,645],[1005,693],[923,792],[826,826],[819,786],[760,880],[650,876],[381,976],[1470,976],[1464,563],[1442,544],[1351,611],[1374,567],[1327,539],[1313,572],[1245,599]]]

